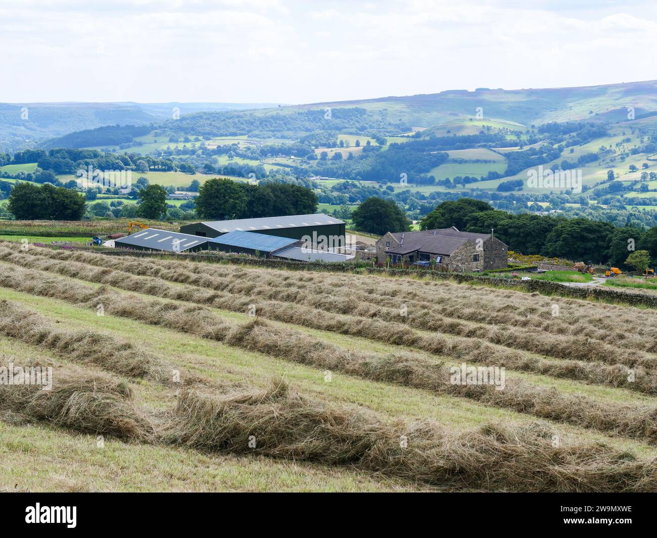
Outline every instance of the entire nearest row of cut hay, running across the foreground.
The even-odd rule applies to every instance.
[[[0,410],[87,434],[350,466],[449,489],[657,491],[654,460],[600,443],[558,447],[544,424],[461,434],[432,422],[390,424],[302,397],[280,381],[265,391],[185,389],[168,418],[154,419],[133,405],[124,383],[66,369],[55,372],[51,390],[0,385]]]

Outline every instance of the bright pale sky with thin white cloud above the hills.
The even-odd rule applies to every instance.
[[[308,102],[657,79],[635,0],[0,0],[0,102]]]

